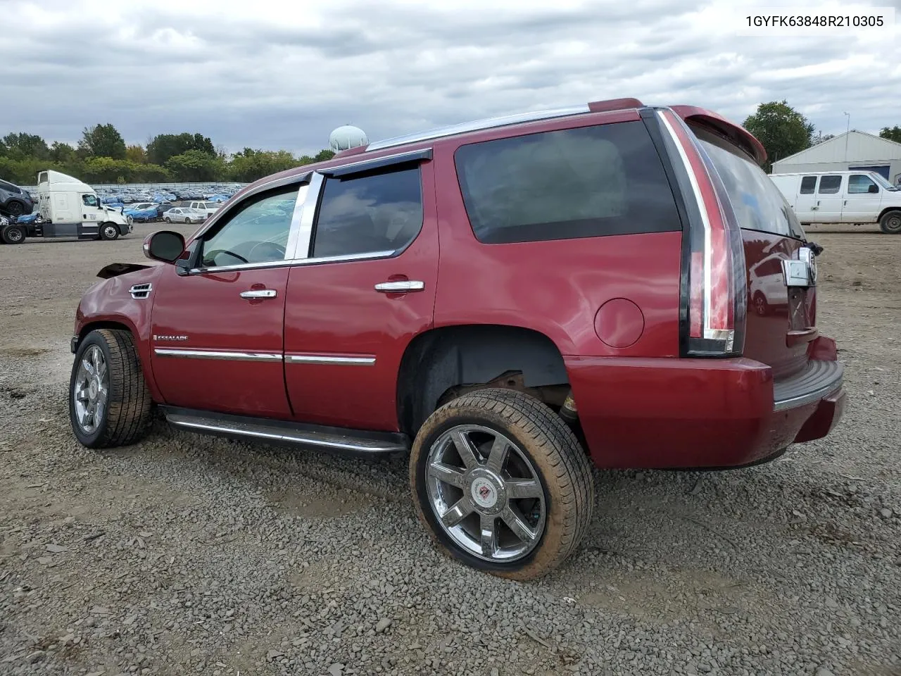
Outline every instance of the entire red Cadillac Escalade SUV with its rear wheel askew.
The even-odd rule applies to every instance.
[[[742,127],[593,102],[263,178],[77,310],[72,427],[409,452],[446,552],[563,562],[601,468],[729,468],[824,437],[845,393],[816,264]]]

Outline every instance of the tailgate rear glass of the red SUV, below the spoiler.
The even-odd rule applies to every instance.
[[[742,228],[804,238],[804,230],[785,196],[756,162],[713,133],[694,131],[723,180]]]

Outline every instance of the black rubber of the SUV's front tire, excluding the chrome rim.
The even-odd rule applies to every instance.
[[[72,367],[73,379],[83,352],[81,348],[92,336],[96,336],[106,347],[106,368],[109,372],[106,416],[96,434],[88,437],[82,433],[75,420],[70,381],[68,396],[72,427],[76,431],[78,441],[88,448],[113,448],[137,443],[147,434],[150,427],[153,400],[144,381],[141,358],[134,345],[132,333],[123,329],[97,329],[88,333],[79,346]]]

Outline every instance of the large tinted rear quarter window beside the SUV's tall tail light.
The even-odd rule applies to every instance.
[[[679,230],[676,203],[641,122],[472,143],[455,153],[479,242]]]

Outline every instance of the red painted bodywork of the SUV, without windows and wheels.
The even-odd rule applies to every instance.
[[[623,99],[623,105],[639,102]],[[581,430],[599,467],[737,466],[766,459],[789,443],[828,434],[844,408],[840,381],[829,391],[796,397],[785,406],[775,400],[779,384],[785,388],[790,379],[799,378],[811,361],[836,360],[828,340],[817,338],[815,288],[801,300],[811,325],[800,331],[789,331],[794,320],[788,316],[786,288],[769,288],[766,307],[754,305],[763,282],[752,279],[752,273],[765,276],[769,259],[776,270],[781,260],[796,258],[804,245],[800,239],[742,230],[740,264],[748,275],[749,309],[742,324],[743,352],[727,358],[686,357],[689,219],[682,206],[681,230],[512,243],[478,240],[455,153],[464,145],[539,132],[617,123],[643,123],[650,129],[658,124],[653,114],[649,119],[638,108],[593,106],[603,112],[496,126],[378,151],[354,149],[257,181],[232,200],[239,202],[280,178],[432,151],[419,165],[422,229],[399,254],[187,277],[165,266],[139,270],[89,290],[79,306],[76,333],[83,335],[96,323],[132,330],[144,376],[160,403],[397,431],[402,428],[398,379],[416,336],[449,326],[516,326],[547,336],[562,355]],[[760,142],[721,116],[692,106],[673,110],[754,160],[765,157]],[[682,194],[673,178],[682,170],[680,160],[662,142],[654,143],[677,202],[690,201],[693,197]],[[205,227],[213,228],[228,213],[220,210]],[[423,290],[386,294],[375,289],[398,279],[422,281]],[[155,287],[150,301],[128,292],[144,281]],[[255,285],[276,290],[278,296],[259,302],[239,297]],[[215,359],[177,361],[159,353],[177,350],[177,336],[186,333],[192,345],[214,352],[257,357],[265,352],[278,358],[228,361],[226,368]]]

